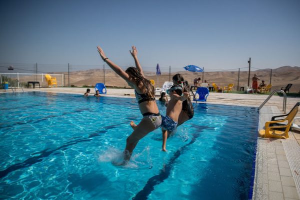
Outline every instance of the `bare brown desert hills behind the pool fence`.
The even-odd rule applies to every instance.
[[[264,80],[266,84],[269,84],[271,78],[272,90],[285,87],[288,83],[292,83],[290,92],[300,91],[300,67],[294,66],[282,66],[276,69],[272,69],[272,75],[270,77],[270,69],[251,70],[250,72],[250,85],[251,79],[254,73],[261,80]],[[178,71],[171,72],[170,78],[175,74],[180,73],[184,79],[190,84],[193,83],[193,79],[200,77],[202,79],[202,72],[188,72]],[[67,83],[67,73],[65,74]],[[155,72],[144,72],[148,79],[155,81],[154,87],[161,87],[164,81],[169,81],[169,73],[162,73],[160,76],[156,76]],[[158,78],[158,83],[157,83]],[[229,83],[234,83],[234,89],[237,88],[238,71],[218,71],[218,72],[204,72],[204,79],[209,83],[216,83],[218,86],[226,86]],[[259,81],[259,83],[260,83]],[[93,86],[98,82],[104,82],[103,69],[89,69],[84,71],[70,72],[70,85],[75,86]],[[239,73],[239,87],[246,86],[248,82],[248,71],[240,71]],[[115,72],[110,69],[105,69],[105,85],[116,87],[128,87],[127,83],[121,79]]]

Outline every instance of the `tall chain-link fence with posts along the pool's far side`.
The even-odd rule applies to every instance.
[[[127,67],[129,66],[121,66],[124,70]],[[251,66],[250,76],[248,75],[248,69],[249,67],[246,66],[234,69],[204,69],[204,72],[189,72],[185,71],[183,66],[160,66],[161,75],[156,75],[156,65],[153,67],[143,66],[145,77],[154,80],[154,87],[161,87],[165,81],[171,81],[173,75],[180,73],[190,85],[193,85],[194,78],[199,77],[201,78],[200,83],[204,80],[210,85],[216,83],[218,86],[227,86],[233,83],[234,90],[240,91],[246,89],[248,82],[251,86],[251,79],[256,74],[260,79],[259,82],[264,80],[265,84],[272,84],[272,90],[281,89],[288,83],[292,83],[293,86],[290,91],[300,92],[299,67],[286,66],[277,69],[259,69]],[[128,84],[113,72],[106,63],[99,65],[0,63],[0,73],[18,73],[19,76],[24,77],[21,81],[21,85],[24,86],[27,81],[39,81],[42,83],[41,86],[46,87],[46,82],[42,77],[43,74],[55,74],[54,76],[59,80],[59,86],[91,87],[101,82],[107,87],[129,88]],[[3,80],[0,81],[3,82]]]

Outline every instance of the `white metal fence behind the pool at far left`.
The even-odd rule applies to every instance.
[[[49,74],[56,78],[57,86],[64,86],[64,74]],[[40,87],[48,87],[45,74],[0,73],[0,84],[8,82],[9,88],[27,88],[29,81],[39,82]],[[32,87],[32,84],[29,87]],[[38,87],[38,85],[35,84]]]

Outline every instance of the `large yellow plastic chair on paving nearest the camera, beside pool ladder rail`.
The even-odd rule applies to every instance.
[[[299,110],[299,104],[300,103],[298,102],[287,115],[282,115],[286,116],[284,119],[265,122],[264,129],[259,131],[259,136],[264,138],[288,138],[288,131],[293,122],[294,117],[296,116]],[[284,122],[286,124],[278,124],[281,122]]]

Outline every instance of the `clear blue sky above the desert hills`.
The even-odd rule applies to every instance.
[[[107,57],[162,71],[300,66],[299,0],[2,0],[0,63],[96,68]],[[49,68],[52,65],[47,65]]]

